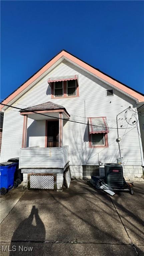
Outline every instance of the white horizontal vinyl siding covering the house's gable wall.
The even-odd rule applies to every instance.
[[[47,80],[49,77],[75,75],[79,77],[79,97],[51,99],[51,87]],[[111,87],[91,76],[73,64],[63,61],[48,75],[42,78],[34,87],[26,92],[13,106],[26,108],[51,101],[66,108],[70,120],[87,123],[88,117],[106,116],[109,127],[116,128],[116,115],[131,106],[136,111],[135,102],[117,90],[113,90],[112,99],[106,97],[106,90]],[[124,113],[119,116],[119,136],[121,156],[126,165],[141,165],[141,152],[137,127],[128,125],[124,120]],[[45,123],[28,118],[27,146],[44,147]],[[36,124],[36,128],[34,123]],[[120,129],[123,125],[124,129]],[[18,157],[22,141],[23,117],[18,110],[5,111],[4,129],[2,139],[1,161],[11,157]],[[130,129],[131,128],[131,129]],[[128,132],[128,133],[127,133]],[[127,133],[127,134],[126,134]],[[126,134],[126,135],[125,135]],[[124,135],[124,137],[123,137]],[[117,129],[110,129],[107,148],[89,148],[88,126],[85,124],[64,121],[63,145],[69,146],[70,165],[95,165],[98,159],[103,163],[116,162],[119,157]]]

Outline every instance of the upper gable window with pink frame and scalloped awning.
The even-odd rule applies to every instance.
[[[51,99],[79,97],[78,75],[52,77],[48,79]]]

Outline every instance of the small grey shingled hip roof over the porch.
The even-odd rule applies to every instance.
[[[50,101],[25,108],[19,112],[21,115],[27,115],[29,118],[34,120],[56,119],[59,117],[59,112],[63,112],[63,118],[70,118],[70,115],[66,111],[65,107]]]

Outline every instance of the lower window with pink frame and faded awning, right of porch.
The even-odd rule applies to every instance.
[[[109,127],[106,117],[88,118],[89,148],[108,147]]]

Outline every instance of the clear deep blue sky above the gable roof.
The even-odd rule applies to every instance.
[[[144,93],[143,1],[1,1],[1,99],[59,51]]]

